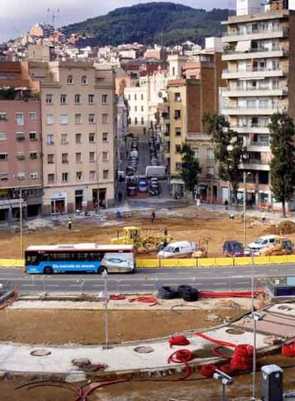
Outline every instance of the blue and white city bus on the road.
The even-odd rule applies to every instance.
[[[135,269],[133,245],[31,245],[25,251],[25,271],[35,274],[87,271],[102,274]]]

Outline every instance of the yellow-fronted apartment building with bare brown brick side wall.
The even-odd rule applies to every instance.
[[[221,56],[222,53],[214,49],[203,51],[199,61],[182,63],[181,73],[185,78],[172,79],[167,84],[167,107],[162,112],[162,130],[167,170],[172,177],[172,194],[183,192],[180,151],[187,142],[202,167],[198,188],[202,199],[213,201],[219,197],[214,149],[202,120],[207,113],[218,113],[219,87],[224,85]],[[177,66],[174,67],[175,73]]]

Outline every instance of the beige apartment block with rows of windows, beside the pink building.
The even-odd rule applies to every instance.
[[[113,68],[86,62],[31,62],[40,80],[43,213],[108,207],[114,200]]]

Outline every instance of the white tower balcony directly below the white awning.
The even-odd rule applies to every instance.
[[[247,51],[224,50],[222,61],[247,60],[249,58],[286,57],[289,54],[287,48],[249,48]]]

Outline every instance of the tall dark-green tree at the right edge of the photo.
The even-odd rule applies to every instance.
[[[269,124],[271,153],[271,190],[277,201],[281,202],[283,216],[286,217],[286,202],[294,194],[295,185],[295,147],[294,123],[287,114],[274,113]]]

